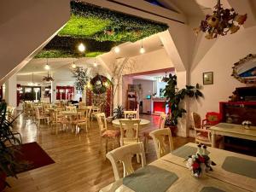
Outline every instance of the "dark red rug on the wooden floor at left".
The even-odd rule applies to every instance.
[[[21,144],[15,149],[18,151],[15,153],[15,158],[22,164],[22,166],[15,168],[17,173],[55,163],[36,142]]]

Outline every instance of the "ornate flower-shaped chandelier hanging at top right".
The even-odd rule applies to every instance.
[[[235,9],[224,9],[220,0],[213,9],[212,15],[207,15],[205,20],[201,20],[201,25],[195,28],[196,34],[206,32],[205,38],[217,38],[218,35],[233,34],[240,29],[240,26],[247,20],[247,14],[238,15]]]

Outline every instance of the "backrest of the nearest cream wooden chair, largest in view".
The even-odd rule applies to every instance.
[[[121,178],[118,169],[118,162],[122,162],[124,168],[123,177],[130,175],[134,172],[134,169],[131,164],[131,158],[134,154],[139,154],[142,159],[142,166],[146,166],[146,158],[145,152],[143,148],[143,143],[133,143],[130,145],[125,145],[113,151],[108,152],[106,155],[108,160],[110,160],[112,167],[113,167],[113,175],[115,180],[119,180]]]

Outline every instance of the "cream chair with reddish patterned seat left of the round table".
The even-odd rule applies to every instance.
[[[112,139],[112,147],[114,148],[114,140],[116,139],[119,143],[120,131],[109,130],[107,126],[107,119],[105,113],[97,113],[96,119],[99,125],[99,131],[101,136],[101,147],[103,145],[102,138],[106,139],[105,148],[106,153],[108,152],[108,139]]]

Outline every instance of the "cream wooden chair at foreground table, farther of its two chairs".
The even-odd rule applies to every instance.
[[[152,131],[149,136],[153,138],[158,159],[173,150],[172,132],[169,128]],[[165,142],[166,137],[168,137],[168,144]]]

